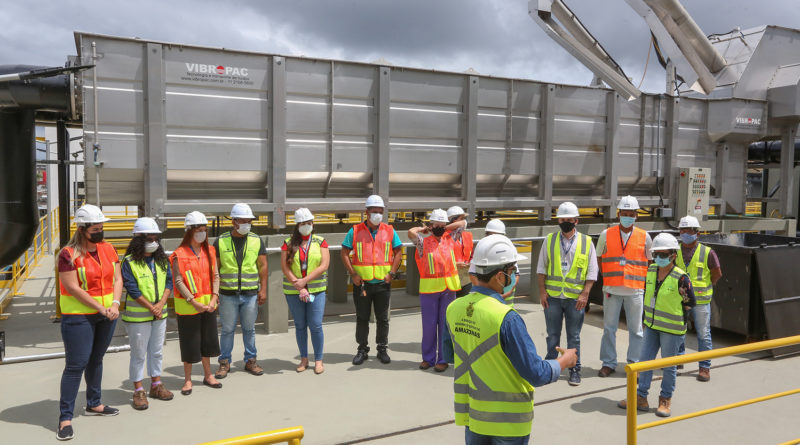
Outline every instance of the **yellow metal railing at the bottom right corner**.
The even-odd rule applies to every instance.
[[[693,354],[676,355],[673,357],[661,358],[657,360],[650,360],[646,362],[631,363],[625,366],[625,373],[627,374],[627,432],[628,432],[628,445],[636,445],[636,433],[639,430],[652,428],[655,426],[666,425],[681,420],[691,419],[694,417],[704,416],[706,414],[716,413],[731,408],[737,408],[752,403],[764,402],[766,400],[775,399],[778,397],[789,396],[792,394],[800,393],[800,388],[783,391],[768,396],[756,397],[754,399],[743,400],[741,402],[730,403],[721,405],[715,408],[704,409],[695,411],[689,414],[670,417],[664,420],[657,420],[655,422],[643,423],[637,425],[636,423],[636,379],[642,371],[652,371],[655,369],[665,368],[669,366],[676,366],[685,363],[699,362],[701,360],[711,360],[720,357],[727,357],[730,355],[746,354],[748,352],[763,351],[765,349],[775,349],[783,346],[792,346],[800,344],[800,335],[793,337],[778,338],[775,340],[760,341],[757,343],[750,343],[747,345],[731,346],[728,348],[714,349],[711,351],[695,352]],[[789,442],[797,443],[797,442]]]

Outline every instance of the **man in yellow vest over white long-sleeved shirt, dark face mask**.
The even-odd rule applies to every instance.
[[[539,276],[539,298],[547,325],[547,355],[558,357],[561,325],[566,321],[567,347],[574,348],[578,361],[569,370],[571,386],[581,384],[581,328],[589,291],[597,281],[597,256],[588,235],[578,233],[578,206],[571,202],[558,206],[559,232],[547,235],[539,253],[536,273]]]

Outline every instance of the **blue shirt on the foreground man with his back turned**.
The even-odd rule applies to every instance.
[[[472,292],[492,297],[505,304],[503,297],[492,289],[472,286]],[[453,344],[450,329],[444,333],[444,357],[453,362]],[[558,380],[561,365],[557,360],[544,360],[536,353],[536,346],[528,334],[528,328],[517,311],[509,311],[500,325],[500,347],[519,375],[533,386],[542,386]]]

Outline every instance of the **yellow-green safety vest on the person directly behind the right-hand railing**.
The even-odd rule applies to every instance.
[[[644,316],[642,322],[657,331],[669,334],[683,335],[686,333],[686,323],[683,319],[683,297],[678,290],[678,281],[684,272],[674,266],[669,275],[664,278],[658,295],[655,294],[656,280],[658,279],[658,266],[650,266],[647,271],[647,287],[644,295]]]

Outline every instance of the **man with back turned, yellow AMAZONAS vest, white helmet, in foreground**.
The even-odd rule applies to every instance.
[[[577,362],[574,349],[543,360],[522,317],[503,301],[501,294],[516,284],[516,264],[523,259],[503,235],[482,239],[472,257],[477,284],[447,307],[455,350],[456,425],[466,427],[467,444],[528,443],[533,388],[555,382]]]

